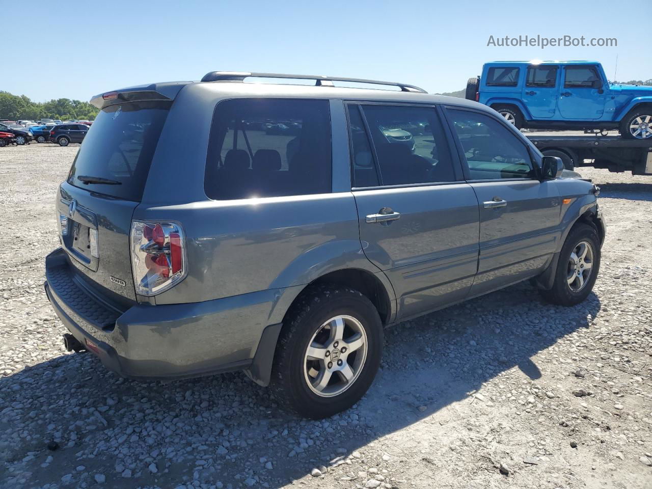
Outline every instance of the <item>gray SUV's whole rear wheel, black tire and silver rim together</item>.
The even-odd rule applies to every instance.
[[[333,332],[338,328],[333,327],[335,321],[329,323],[329,319],[334,318],[342,318],[346,325],[341,328],[344,339],[337,344]],[[350,334],[356,333],[355,328],[359,327],[357,336]],[[355,338],[362,346],[348,352],[342,350],[343,345],[353,345],[347,340]],[[312,351],[320,352],[317,356],[323,360],[308,359],[308,346],[316,344],[323,348]],[[286,315],[274,354],[270,389],[276,402],[286,411],[310,419],[332,416],[350,408],[364,396],[378,372],[382,351],[383,325],[367,297],[348,287],[313,286]],[[338,361],[334,358],[336,354]],[[328,367],[330,359],[333,359],[331,368]],[[338,372],[340,365],[344,365],[342,370],[347,368],[352,378],[350,383]],[[331,381],[320,391],[319,379],[325,378],[321,377],[323,373],[329,374]]]

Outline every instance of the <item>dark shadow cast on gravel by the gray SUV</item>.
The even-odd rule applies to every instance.
[[[593,293],[561,308],[519,284],[397,325],[387,330],[383,368],[366,397],[323,421],[278,411],[243,374],[140,383],[117,378],[88,353],[57,357],[0,379],[0,487],[61,484],[68,474],[71,486],[95,486],[101,473],[104,487],[190,488],[196,479],[202,487],[278,488],[424,418],[448,422],[454,410],[442,408],[471,402],[501,372],[541,378],[546,364],[531,357],[588,327],[599,308]],[[53,439],[61,448],[51,452]],[[405,456],[391,441],[365,452],[368,465],[383,452]],[[41,466],[49,455],[52,463]],[[135,480],[123,478],[125,469]]]

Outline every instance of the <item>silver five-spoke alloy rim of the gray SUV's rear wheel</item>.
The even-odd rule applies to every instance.
[[[352,316],[335,316],[312,336],[303,361],[310,390],[321,397],[342,394],[360,376],[367,356],[364,326]]]

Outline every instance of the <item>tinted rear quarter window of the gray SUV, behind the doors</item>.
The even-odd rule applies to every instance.
[[[204,188],[215,200],[331,192],[327,100],[239,99],[215,110]]]

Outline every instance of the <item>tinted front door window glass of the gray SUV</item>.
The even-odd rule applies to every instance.
[[[449,110],[472,180],[535,178],[524,143],[489,115]]]

